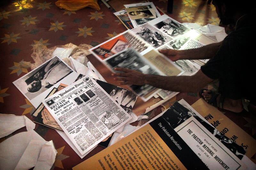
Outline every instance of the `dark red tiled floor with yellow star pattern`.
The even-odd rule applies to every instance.
[[[31,58],[33,44],[42,43],[47,48],[67,43],[90,44],[96,46],[126,28],[113,15],[113,10],[100,4],[100,10],[84,8],[79,11],[59,9],[52,0],[14,0],[1,2],[0,7],[0,113],[30,116],[34,107],[12,82],[30,71],[20,65],[20,61],[34,62]],[[167,0],[153,1],[166,12]],[[202,0],[174,0],[173,14],[170,17],[179,22],[208,23],[218,25],[219,18],[212,4]],[[194,103],[197,94],[181,93],[177,98],[186,97]],[[242,129],[255,137],[255,117],[225,113]],[[245,117],[245,118],[244,118]],[[20,129],[15,133],[25,131]],[[53,140],[58,151],[52,169],[70,169],[83,160],[102,150],[97,147],[84,159],[80,159],[69,145],[56,134],[55,130],[36,125],[36,132],[45,140]],[[4,138],[5,139],[5,138]],[[1,139],[2,141],[4,140]]]

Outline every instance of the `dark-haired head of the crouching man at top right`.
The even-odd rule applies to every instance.
[[[236,24],[237,17],[249,13],[254,8],[254,5],[250,3],[241,3],[241,1],[233,0],[213,0],[212,4],[215,6],[216,13],[224,25]]]

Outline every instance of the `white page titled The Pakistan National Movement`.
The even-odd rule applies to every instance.
[[[214,128],[212,127],[214,130]],[[209,169],[245,169],[244,163],[212,135],[195,117],[174,129]]]

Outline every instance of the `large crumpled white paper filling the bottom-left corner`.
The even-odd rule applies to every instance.
[[[0,169],[15,169],[31,140],[45,141],[34,130],[30,130],[20,132],[0,143]]]

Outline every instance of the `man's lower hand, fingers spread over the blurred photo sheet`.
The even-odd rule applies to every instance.
[[[145,74],[125,68],[115,68],[116,71],[123,71],[123,73],[112,73],[114,80],[120,81],[120,85],[145,85]]]

